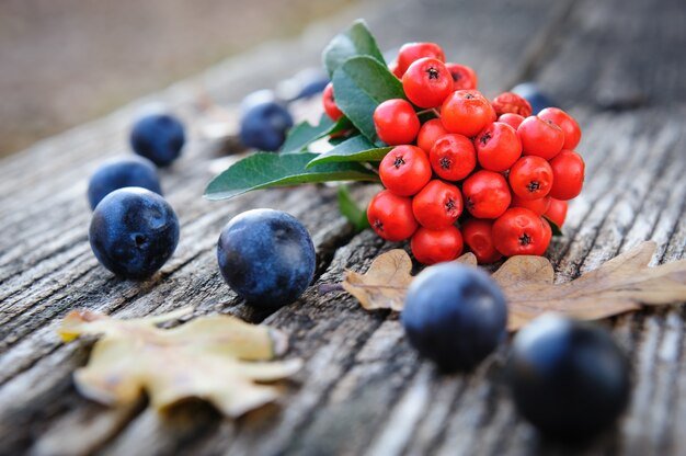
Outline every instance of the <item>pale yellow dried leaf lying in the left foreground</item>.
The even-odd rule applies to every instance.
[[[286,351],[283,332],[236,317],[215,315],[157,328],[192,310],[130,320],[69,312],[59,329],[65,342],[101,335],[89,363],[75,373],[78,390],[105,404],[132,403],[145,390],[158,410],[195,397],[238,417],[278,397],[276,387],[258,381],[286,378],[300,368],[299,360],[268,362]]]

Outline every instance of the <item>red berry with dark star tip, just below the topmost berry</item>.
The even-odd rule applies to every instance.
[[[415,60],[402,76],[402,90],[420,107],[437,107],[453,92],[453,77],[441,60]]]

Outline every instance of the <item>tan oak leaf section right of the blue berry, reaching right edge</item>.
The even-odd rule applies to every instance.
[[[554,311],[583,320],[597,320],[641,305],[686,300],[686,261],[649,267],[654,242],[607,261],[597,270],[562,284],[553,284],[550,262],[541,256],[513,256],[493,273],[507,297],[510,330],[517,330],[542,312]]]

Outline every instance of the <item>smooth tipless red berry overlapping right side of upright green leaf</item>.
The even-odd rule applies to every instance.
[[[420,119],[407,100],[386,100],[374,110],[374,126],[379,138],[389,146],[414,141]]]

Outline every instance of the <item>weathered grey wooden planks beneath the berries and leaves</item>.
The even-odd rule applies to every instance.
[[[684,256],[686,11],[679,0],[387,2],[148,101],[168,103],[195,126],[198,87],[218,100],[272,87],[295,67],[316,65],[330,34],[362,14],[385,47],[437,41],[449,58],[476,67],[487,94],[533,78],[581,119],[587,183],[571,205],[565,236],[549,251],[558,281],[644,239],[660,246],[654,263]],[[214,248],[221,226],[247,208],[282,208],[307,225],[318,252],[316,285],[338,281],[346,267],[364,270],[397,246],[369,231],[355,235],[338,213],[334,191],[323,186],[203,201],[211,144],[192,140],[163,172],[182,223],[172,260],[145,283],[115,278],[88,246],[84,191],[105,156],[126,150],[137,107],[0,162],[0,454],[686,454],[683,308],[608,321],[632,358],[630,410],[603,438],[558,446],[515,414],[501,378],[505,347],[471,375],[442,376],[409,347],[397,315],[366,312],[344,294],[322,298],[313,286],[272,315],[244,306],[220,280]],[[126,318],[188,304],[197,315],[230,312],[291,333],[288,356],[306,365],[284,385],[279,404],[232,421],[192,402],[162,418],[142,401],[114,410],[76,392],[71,372],[85,362],[91,341],[59,342],[55,329],[67,311],[87,307]]]

